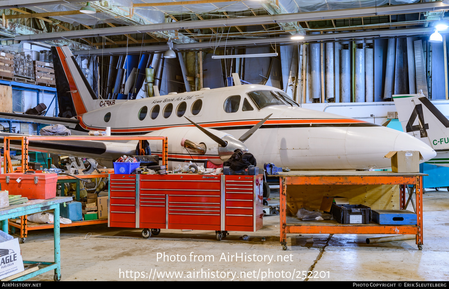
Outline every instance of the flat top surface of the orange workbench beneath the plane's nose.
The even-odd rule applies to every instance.
[[[394,173],[392,171],[354,171],[354,170],[335,170],[335,171],[290,171],[279,172],[272,177],[413,177],[427,176],[426,173]]]

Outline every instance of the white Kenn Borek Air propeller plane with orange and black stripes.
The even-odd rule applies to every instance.
[[[420,151],[423,161],[436,156],[431,147],[407,133],[299,107],[282,90],[241,85],[235,75],[236,85],[232,87],[169,93],[98,107],[98,103],[105,102],[95,97],[69,48],[52,50],[61,111],[74,117],[43,120],[0,113],[1,118],[65,124],[72,134],[111,127],[112,135],[166,136],[169,168],[189,160],[204,162],[207,167],[217,166],[237,148],[250,151],[258,165],[273,162],[290,169],[388,168],[391,163],[384,156],[389,151]],[[134,154],[136,144],[33,142],[30,147],[112,160]],[[149,145],[153,154],[161,154],[161,142],[150,141]]]

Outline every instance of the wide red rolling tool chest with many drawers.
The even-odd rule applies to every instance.
[[[262,227],[262,175],[111,174],[109,194],[110,227],[220,232]]]

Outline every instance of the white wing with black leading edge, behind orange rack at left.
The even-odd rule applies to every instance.
[[[5,136],[23,136],[17,133],[0,133],[0,147],[3,147]],[[11,140],[11,147],[21,149],[20,140]],[[99,160],[114,160],[123,155],[136,154],[137,141],[109,142],[91,140],[41,141],[30,140],[30,151],[42,151],[65,156],[88,157]]]

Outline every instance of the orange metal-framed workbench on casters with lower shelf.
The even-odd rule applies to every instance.
[[[393,173],[391,171],[291,171],[280,177],[280,239],[287,249],[286,234],[413,234],[418,249],[423,245],[423,176],[424,173]],[[291,185],[399,185],[399,209],[405,209],[405,191],[413,204],[416,191],[417,225],[340,224],[329,221],[299,221],[287,216],[287,199]],[[413,187],[409,187],[412,185]],[[293,189],[293,187],[292,187]],[[331,189],[330,189],[331,190]],[[305,196],[307,197],[307,196]]]

